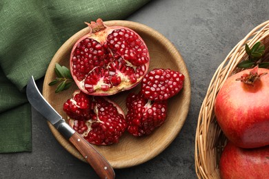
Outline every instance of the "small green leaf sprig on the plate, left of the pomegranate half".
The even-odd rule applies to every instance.
[[[59,83],[59,85],[55,89],[55,93],[59,93],[66,89],[69,89],[69,87],[72,85],[72,82],[74,81],[70,70],[65,66],[59,65],[59,63],[56,63],[54,67],[54,72],[57,78],[48,83],[48,85],[52,86]]]

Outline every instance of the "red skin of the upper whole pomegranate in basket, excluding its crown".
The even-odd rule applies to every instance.
[[[219,90],[215,116],[226,137],[243,148],[269,145],[269,74],[253,85],[236,81],[250,70],[230,76]],[[268,73],[259,68],[258,73]]]

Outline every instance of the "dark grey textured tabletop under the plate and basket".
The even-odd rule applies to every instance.
[[[195,131],[212,75],[230,50],[268,19],[268,0],[156,0],[126,19],[154,28],[175,44],[190,73],[192,98],[186,123],[171,145],[142,165],[116,169],[117,178],[197,178]],[[98,178],[39,118],[33,111],[32,152],[1,154],[0,178]]]

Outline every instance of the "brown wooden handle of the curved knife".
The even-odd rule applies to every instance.
[[[81,135],[75,132],[69,141],[76,147],[87,162],[92,166],[97,175],[102,179],[115,178],[113,168],[109,162],[99,154]]]

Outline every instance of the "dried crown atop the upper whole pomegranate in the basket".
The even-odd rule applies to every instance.
[[[237,78],[236,81],[241,81],[248,85],[253,85],[261,76],[266,75],[267,73],[258,74],[259,67],[255,66],[249,74],[243,74],[240,78]]]

